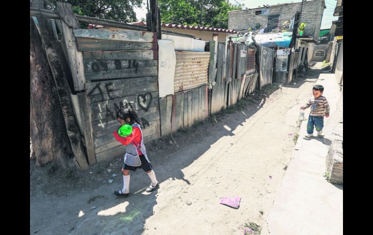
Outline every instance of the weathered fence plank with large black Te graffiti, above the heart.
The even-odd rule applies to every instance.
[[[87,95],[101,94],[105,92],[112,92],[123,88],[137,87],[139,85],[157,82],[158,77],[141,77],[141,78],[124,78],[109,81],[96,81],[86,83],[85,91]]]

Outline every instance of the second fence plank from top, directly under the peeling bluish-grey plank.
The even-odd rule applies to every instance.
[[[77,37],[76,40],[77,40],[79,51],[158,49],[158,45],[156,43],[125,42],[125,41],[117,41],[117,40],[103,40],[103,39],[82,38],[82,37]],[[104,58],[85,58],[84,57],[84,59],[104,59]]]

